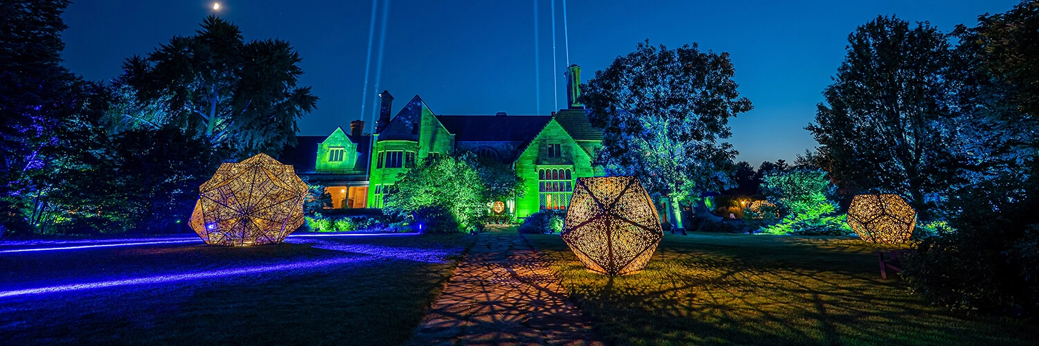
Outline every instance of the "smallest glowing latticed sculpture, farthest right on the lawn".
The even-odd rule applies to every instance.
[[[865,241],[904,243],[916,228],[916,211],[898,194],[859,194],[848,208],[848,225]]]

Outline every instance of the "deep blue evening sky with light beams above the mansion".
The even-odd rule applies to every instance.
[[[548,114],[558,108],[553,106],[551,0],[538,1],[540,108],[534,91],[533,1],[391,1],[379,88],[397,98],[395,112],[415,95],[437,114]],[[318,110],[299,122],[301,134],[327,134],[359,117],[371,1],[220,3],[219,15],[238,24],[246,39],[278,37],[299,51],[305,71],[301,83],[321,98]],[[645,38],[672,48],[695,42],[702,50],[728,52],[740,91],[754,104],[754,110],[731,121],[729,141],[740,151],[739,160],[754,165],[791,161],[817,144],[803,127],[823,101],[821,92],[856,26],[894,14],[948,31],[1015,3],[570,0],[569,60],[583,66],[587,79]],[[562,0],[556,6],[562,106]],[[87,79],[111,79],[126,57],[151,52],[176,34],[191,34],[211,7],[212,1],[198,0],[79,0],[64,15],[65,65]],[[371,86],[372,100],[377,91]]]

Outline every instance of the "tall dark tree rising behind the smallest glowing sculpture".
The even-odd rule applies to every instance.
[[[944,190],[957,158],[945,35],[878,17],[848,36],[848,53],[824,91],[811,131],[830,175],[852,190],[909,196],[926,217],[924,196]]]

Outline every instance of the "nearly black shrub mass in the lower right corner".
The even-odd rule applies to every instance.
[[[1039,172],[953,191],[949,228],[921,241],[902,271],[913,292],[954,310],[1039,313]]]

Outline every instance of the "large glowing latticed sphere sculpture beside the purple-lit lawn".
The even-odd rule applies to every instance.
[[[266,154],[221,163],[199,188],[191,229],[210,245],[276,244],[303,224],[308,185]]]

